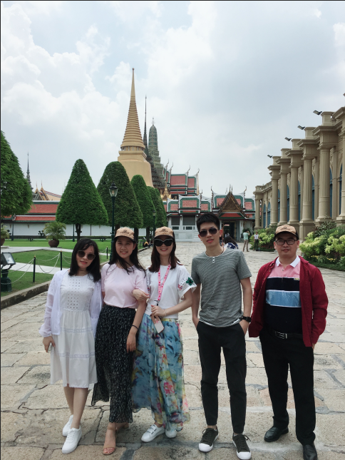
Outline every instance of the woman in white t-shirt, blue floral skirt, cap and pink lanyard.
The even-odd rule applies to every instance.
[[[196,285],[175,256],[175,249],[174,232],[167,227],[158,228],[152,263],[146,270],[149,294],[133,291],[138,300],[148,298],[139,329],[132,378],[133,412],[151,409],[155,420],[143,434],[141,440],[144,442],[153,441],[164,432],[168,438],[175,438],[183,424],[190,421],[178,312],[192,306],[192,291]],[[162,332],[158,332],[160,324],[164,327]]]

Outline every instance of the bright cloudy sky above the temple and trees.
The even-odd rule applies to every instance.
[[[1,1],[1,130],[31,181],[98,185],[125,133],[131,68],[143,133],[200,189],[269,181],[267,155],[344,106],[343,1]]]

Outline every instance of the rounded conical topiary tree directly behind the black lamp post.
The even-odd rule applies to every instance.
[[[109,187],[113,182],[118,188],[118,195],[115,198],[116,228],[143,228],[143,214],[135,197],[133,187],[130,185],[125,168],[123,168],[123,165],[119,161],[113,161],[108,164],[97,187],[108,213],[108,225],[111,225],[113,212],[109,194]]]

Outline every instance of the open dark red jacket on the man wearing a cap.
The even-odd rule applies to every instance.
[[[307,260],[299,257],[299,295],[302,306],[302,333],[306,347],[316,344],[326,328],[328,298],[321,272]],[[262,265],[257,274],[253,295],[252,322],[249,324],[249,337],[258,337],[264,327],[264,305],[266,303],[266,280],[274,267],[274,259]]]

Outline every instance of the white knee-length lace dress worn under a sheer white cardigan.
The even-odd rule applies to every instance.
[[[95,283],[89,275],[63,276],[61,283],[60,334],[53,335],[51,384],[88,388],[97,382],[95,340],[91,328],[90,305]]]

